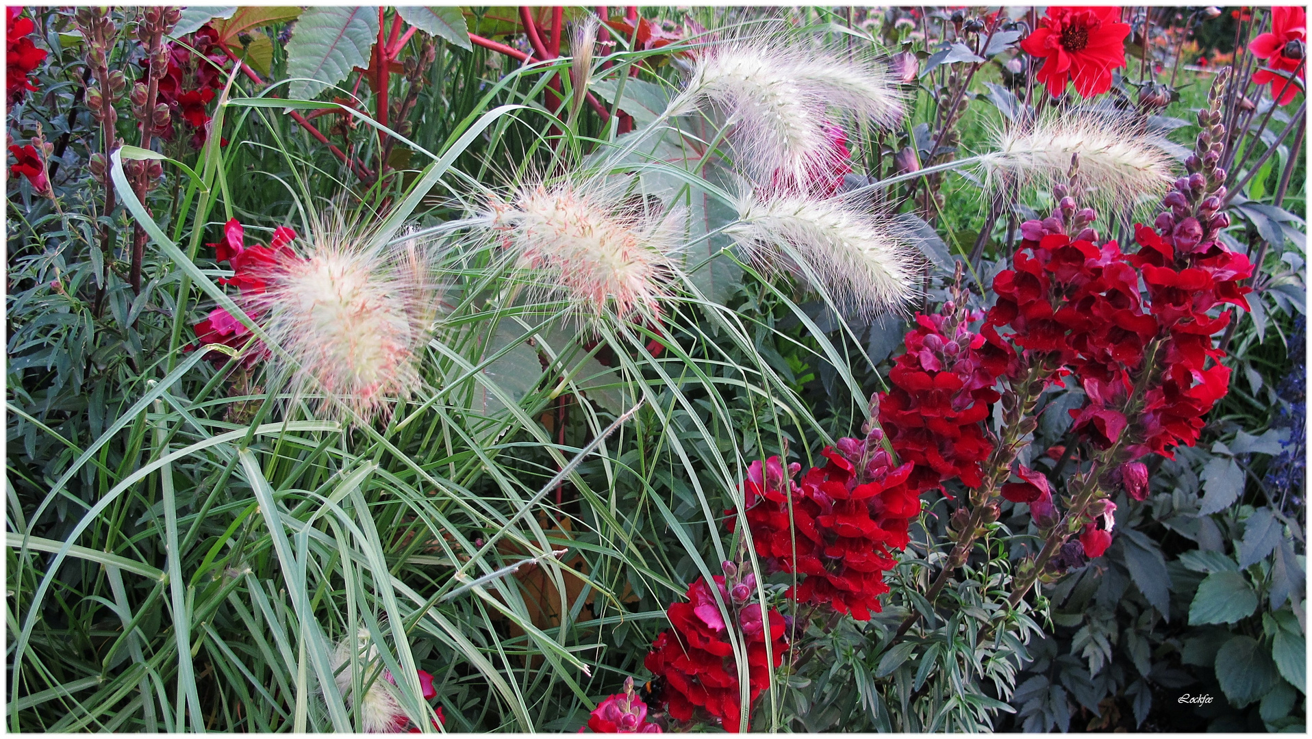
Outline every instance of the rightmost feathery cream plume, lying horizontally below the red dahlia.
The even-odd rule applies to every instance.
[[[1010,173],[1021,182],[1064,180],[1080,155],[1080,182],[1099,202],[1123,204],[1160,197],[1174,180],[1176,144],[1141,131],[1134,121],[1098,111],[1054,113],[1034,126],[1001,130],[980,157],[991,181]]]

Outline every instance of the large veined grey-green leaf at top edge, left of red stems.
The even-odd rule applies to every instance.
[[[297,21],[287,42],[291,97],[308,100],[328,85],[346,79],[356,67],[369,66],[378,39],[378,8],[310,8]]]

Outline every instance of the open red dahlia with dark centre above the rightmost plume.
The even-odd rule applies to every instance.
[[[1056,97],[1075,83],[1081,97],[1111,89],[1111,71],[1126,66],[1124,41],[1130,25],[1120,22],[1120,8],[1054,8],[1021,48],[1043,59],[1035,79]]]

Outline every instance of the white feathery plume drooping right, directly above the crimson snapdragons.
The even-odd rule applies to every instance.
[[[726,232],[757,259],[762,246],[794,249],[837,299],[867,316],[897,309],[916,292],[921,257],[903,228],[837,199],[752,193]]]

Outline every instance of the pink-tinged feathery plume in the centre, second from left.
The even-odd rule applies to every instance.
[[[651,312],[673,275],[681,212],[656,212],[639,195],[623,199],[601,181],[526,186],[509,202],[493,199],[488,223],[522,266],[585,311],[607,305],[625,316]]]

